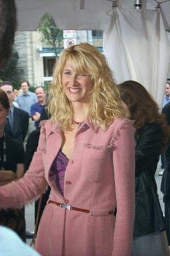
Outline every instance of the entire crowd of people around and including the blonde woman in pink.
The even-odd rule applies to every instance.
[[[10,3],[13,27],[8,39],[0,31],[0,53],[8,49],[1,66],[17,24],[14,1],[6,2],[0,14]],[[166,231],[170,244],[169,83],[160,113],[144,85],[117,85],[104,55],[81,43],[56,61],[48,102],[42,87],[33,93],[29,81],[20,86],[15,98],[11,81],[0,85],[3,255],[169,255],[162,239]],[[160,155],[165,217],[155,182]],[[36,252],[25,245],[24,206],[42,189]]]

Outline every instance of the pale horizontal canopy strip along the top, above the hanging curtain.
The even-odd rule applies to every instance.
[[[103,29],[106,12],[112,9],[108,0],[15,0],[18,31],[35,31],[41,17],[50,13],[60,29]],[[159,0],[163,2],[164,0]],[[134,9],[135,0],[118,0],[122,9]],[[155,9],[154,0],[141,0],[145,9]],[[162,3],[170,24],[170,1]]]

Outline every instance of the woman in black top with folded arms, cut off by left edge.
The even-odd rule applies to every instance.
[[[5,136],[4,127],[9,114],[9,100],[0,89],[0,186],[15,181],[24,174],[24,149],[21,143]],[[0,210],[0,225],[13,229],[25,241],[23,209]]]

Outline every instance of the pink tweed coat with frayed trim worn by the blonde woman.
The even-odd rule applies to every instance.
[[[36,249],[43,256],[130,256],[134,216],[134,131],[115,119],[104,132],[88,122],[78,129],[66,167],[64,196],[49,177],[61,143],[61,129],[46,121],[37,152],[23,179],[0,187],[0,207],[19,207],[36,199],[42,177],[50,200],[90,210],[69,211],[47,203]],[[116,218],[109,211],[117,208]]]

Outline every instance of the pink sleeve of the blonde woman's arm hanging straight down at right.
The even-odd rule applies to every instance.
[[[131,256],[135,197],[133,125],[126,121],[117,134],[113,152],[117,214],[112,256]]]

